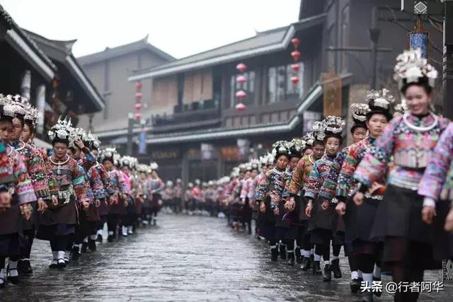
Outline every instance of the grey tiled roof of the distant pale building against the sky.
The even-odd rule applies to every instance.
[[[159,50],[159,48],[155,47],[154,45],[149,44],[147,35],[142,40],[113,48],[106,47],[103,52],[88,54],[86,56],[79,57],[78,60],[81,65],[88,65],[105,61],[106,59],[111,59],[113,57],[120,57],[131,52],[137,52],[138,50],[149,50],[150,52],[154,52],[159,57],[162,57],[167,61],[173,61],[175,59],[170,54],[167,54],[166,52]]]

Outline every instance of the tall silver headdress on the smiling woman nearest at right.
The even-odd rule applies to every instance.
[[[422,57],[421,50],[405,50],[396,57],[394,80],[401,88],[405,83],[416,83],[422,78],[428,79],[428,85],[435,86],[437,70]]]

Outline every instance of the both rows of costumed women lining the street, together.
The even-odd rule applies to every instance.
[[[401,103],[385,88],[363,95],[351,106],[350,146],[340,148],[345,121],[328,116],[228,177],[185,186],[165,184],[157,163],[101,149],[66,119],[48,132],[46,153],[33,144],[38,110],[0,95],[0,288],[33,272],[34,238],[50,241],[50,268],[62,269],[96,250],[105,223],[113,243],[156,224],[162,207],[226,218],[267,240],[271,261],[320,281],[343,277],[343,248],[352,293],[380,281],[382,269],[396,283],[423,281],[425,269],[453,257],[453,124],[432,110],[437,71],[419,50],[398,56],[394,71]],[[418,299],[400,289],[395,301]]]

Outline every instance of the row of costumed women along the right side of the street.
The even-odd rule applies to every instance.
[[[401,102],[385,88],[363,95],[351,106],[350,146],[340,149],[343,119],[326,117],[230,177],[189,184],[185,211],[226,216],[248,233],[255,220],[270,260],[320,281],[343,277],[343,247],[352,293],[380,296],[372,284],[384,269],[399,284],[394,300],[416,301],[421,290],[401,284],[453,259],[453,123],[432,110],[437,71],[420,51],[398,56],[394,72]]]

